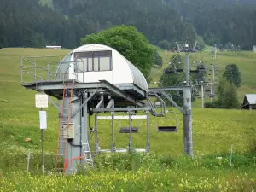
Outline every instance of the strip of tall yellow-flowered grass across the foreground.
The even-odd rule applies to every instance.
[[[98,155],[94,169],[72,177],[47,170],[0,172],[1,191],[253,191],[252,154],[172,157],[155,154]]]

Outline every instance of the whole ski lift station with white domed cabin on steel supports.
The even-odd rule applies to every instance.
[[[48,62],[53,57],[58,61]],[[39,62],[42,58],[47,63]],[[58,168],[61,163],[67,174],[77,172],[78,165],[88,163],[93,166],[93,155],[99,153],[128,152],[131,148],[135,148],[137,152],[149,152],[150,115],[166,117],[166,113],[170,113],[166,110],[164,99],[172,102],[183,113],[185,153],[193,155],[192,135],[190,137],[188,133],[191,131],[190,86],[148,88],[143,73],[117,50],[106,45],[83,45],[73,49],[62,60],[55,55],[24,57],[21,59],[21,84],[26,89],[48,95],[49,101],[58,109],[59,127],[56,129],[59,129],[59,136],[56,138],[58,146],[55,167]],[[186,92],[183,94],[183,108],[167,93],[171,90]],[[50,96],[57,98],[58,103]],[[143,114],[138,115],[137,111],[142,111]],[[126,114],[117,115],[117,112]],[[103,113],[108,116],[102,115]],[[94,125],[91,125],[92,117],[95,119]],[[129,134],[128,149],[116,148],[115,134],[119,134],[115,133],[116,119],[129,120],[129,126],[119,130],[119,133]],[[138,130],[133,127],[132,119],[146,121],[145,148],[132,145],[132,134]],[[99,148],[100,120],[111,122],[109,129],[112,130],[112,144],[109,149]],[[177,131],[177,125],[159,125],[157,131]],[[92,132],[95,134],[95,150],[90,149],[89,137]]]

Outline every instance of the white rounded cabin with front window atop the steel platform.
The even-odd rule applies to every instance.
[[[74,49],[61,61],[55,75],[57,79],[74,79],[88,84],[106,80],[137,100],[146,99],[148,94],[143,73],[117,50],[102,44],[86,44]],[[114,99],[116,107],[124,105],[118,96]]]

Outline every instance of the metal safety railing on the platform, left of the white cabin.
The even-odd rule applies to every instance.
[[[58,61],[51,61],[53,57]],[[74,79],[84,82],[83,61],[63,61],[55,55],[31,56],[21,59],[21,84],[65,81]]]

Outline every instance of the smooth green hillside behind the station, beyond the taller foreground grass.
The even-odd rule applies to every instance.
[[[35,91],[26,90],[20,85],[20,58],[26,55],[61,55],[67,54],[67,50],[47,50],[47,49],[2,49],[0,50],[0,140],[7,142],[7,145],[17,145],[26,148],[40,148],[40,131],[38,129],[38,109],[35,108]],[[205,55],[208,56],[208,55]],[[227,60],[232,58],[237,60],[237,56],[224,56]],[[240,58],[242,59],[242,58]],[[191,59],[193,61],[193,59]],[[244,78],[250,84],[253,91],[253,80],[249,76],[252,70],[247,66],[251,60],[244,60],[248,63],[243,65],[241,72]],[[254,75],[253,75],[254,76]],[[252,77],[253,77],[252,76]],[[249,78],[248,78],[249,77]],[[49,104],[48,125],[45,131],[45,149],[55,152],[57,143],[57,110]],[[230,144],[234,145],[234,150],[244,151],[252,143],[256,136],[254,124],[256,119],[254,113],[240,110],[214,110],[193,108],[193,129],[195,152],[198,154],[211,154],[228,150]],[[183,153],[183,116],[178,114],[179,128],[177,133],[157,133],[157,125],[176,125],[174,119],[170,122],[166,119],[151,118],[150,134],[151,149],[160,154],[182,154]],[[173,118],[173,117],[172,117]],[[124,124],[127,124],[125,122]],[[145,123],[134,122],[140,127],[140,133],[134,135],[134,144],[139,148],[145,147],[143,139],[146,138]],[[119,129],[121,122],[117,122],[116,129]],[[101,148],[110,146],[110,131],[108,123],[99,125],[101,131]],[[118,130],[117,130],[118,132]],[[239,134],[238,134],[239,133]],[[26,143],[24,139],[32,138],[31,143]],[[125,147],[128,143],[128,136],[116,135],[119,147]],[[162,141],[165,141],[164,143]],[[172,148],[170,147],[172,146]]]

